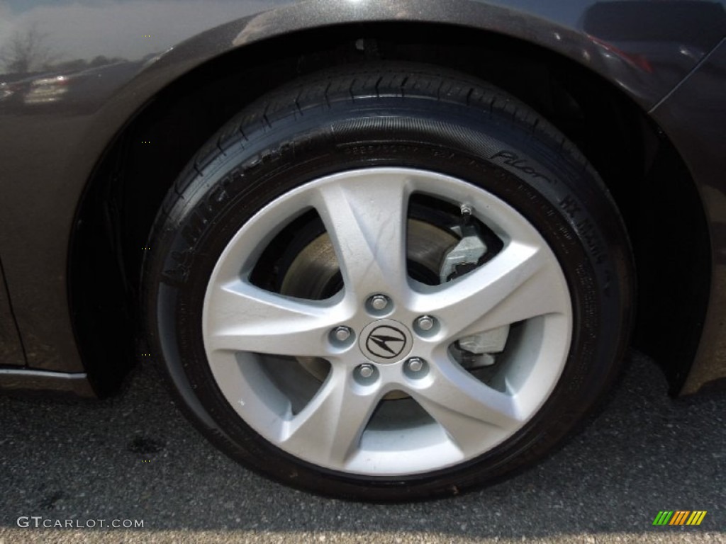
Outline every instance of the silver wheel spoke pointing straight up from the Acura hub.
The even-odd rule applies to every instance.
[[[317,190],[314,206],[335,247],[346,292],[358,300],[407,289],[408,197],[406,178],[383,173]]]

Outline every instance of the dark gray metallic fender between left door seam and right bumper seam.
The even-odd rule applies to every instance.
[[[670,3],[656,5],[662,8],[665,4]],[[726,5],[723,1],[688,4],[708,4],[709,9],[720,6],[721,12]],[[23,13],[17,12],[18,6],[23,7]],[[81,51],[78,44],[82,44],[86,59],[99,54],[132,57],[128,62],[99,67],[95,73],[63,73],[87,85],[79,85],[81,92],[76,94],[69,91],[57,95],[60,98],[56,102],[23,104],[17,100],[19,94],[27,96],[33,86],[37,90],[41,84],[38,75],[26,81],[17,81],[17,75],[0,75],[0,82],[7,82],[5,89],[16,89],[15,96],[0,98],[0,255],[27,348],[28,365],[83,371],[67,305],[66,260],[76,202],[98,157],[124,123],[158,91],[193,67],[235,48],[296,30],[361,22],[441,22],[512,36],[574,59],[649,110],[726,33],[723,20],[712,17],[698,31],[683,33],[672,41],[665,30],[658,31],[658,17],[654,17],[643,21],[644,26],[655,29],[656,38],[649,41],[627,35],[613,39],[607,28],[600,29],[600,37],[597,20],[593,22],[588,14],[608,6],[616,11],[629,9],[622,2],[590,0],[115,0],[0,4],[0,41],[7,41],[16,30],[27,30],[36,21],[44,31],[58,29],[55,38],[60,43],[76,44],[68,46],[71,51]],[[63,27],[63,21],[69,18],[73,25]],[[99,31],[106,20],[112,21],[115,32],[126,38],[119,41],[115,34]],[[133,46],[129,46],[130,40]],[[48,79],[46,75],[43,78]],[[94,82],[102,84],[94,86]],[[36,92],[38,96],[57,91],[53,82],[42,85],[50,88]],[[687,105],[679,105],[679,95],[669,99],[669,107],[674,110]],[[30,156],[37,158],[29,160]],[[698,169],[693,173],[699,183],[705,183]],[[714,212],[709,208],[709,213]],[[717,226],[719,220],[711,215],[711,221]],[[38,223],[43,228],[38,228]],[[719,243],[724,244],[722,240]],[[714,246],[714,252],[719,252],[719,247],[725,246]]]

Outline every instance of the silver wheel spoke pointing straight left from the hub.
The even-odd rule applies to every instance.
[[[206,345],[216,351],[325,357],[328,334],[343,313],[312,300],[295,300],[245,281],[210,292]]]

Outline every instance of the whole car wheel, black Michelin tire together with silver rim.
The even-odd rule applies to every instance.
[[[582,154],[487,83],[314,74],[231,120],[150,238],[150,344],[229,456],[358,500],[555,448],[619,370],[627,235]]]

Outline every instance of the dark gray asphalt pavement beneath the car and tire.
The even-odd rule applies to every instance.
[[[230,461],[142,367],[109,400],[0,397],[0,544],[726,543],[725,422],[726,393],[672,400],[634,354],[600,416],[534,469],[446,500],[348,503]],[[707,514],[654,527],[661,510]]]

